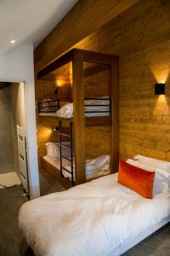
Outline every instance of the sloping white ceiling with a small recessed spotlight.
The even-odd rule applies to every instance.
[[[0,0],[0,54],[42,42],[78,0]],[[15,44],[10,44],[12,39]]]

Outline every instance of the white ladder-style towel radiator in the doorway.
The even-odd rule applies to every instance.
[[[17,125],[17,140],[20,165],[20,182],[23,185],[24,189],[26,189],[26,193],[29,193],[29,179],[26,154],[26,131],[19,125]]]

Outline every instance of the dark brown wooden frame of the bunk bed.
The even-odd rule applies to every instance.
[[[83,61],[95,63],[95,67],[83,69]],[[119,88],[118,88],[118,56],[105,55],[83,49],[71,49],[54,62],[50,63],[37,73],[37,79],[47,77],[59,67],[72,63],[71,100],[73,102],[74,117],[72,119],[58,119],[63,123],[72,122],[74,134],[75,152],[75,175],[76,184],[86,182],[85,173],[85,125],[111,125],[111,173],[117,172],[119,162]],[[106,69],[110,70],[110,95],[111,95],[111,116],[86,118],[84,116],[84,85],[83,77],[99,73]],[[39,122],[54,122],[54,117],[40,116]],[[47,169],[47,163],[42,160],[42,168]],[[60,172],[60,170],[58,170]],[[51,174],[58,179],[57,168],[51,170]],[[59,178],[59,182],[61,179]],[[70,187],[66,183],[66,188]]]

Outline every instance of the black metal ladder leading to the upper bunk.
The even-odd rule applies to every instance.
[[[69,142],[71,143],[71,147],[67,147],[62,143],[62,137],[69,137],[70,139]],[[68,157],[65,157],[65,155],[62,154],[62,148],[67,148],[68,150],[71,151],[71,159]],[[75,182],[74,182],[74,164],[73,164],[74,159],[73,159],[72,122],[70,123],[70,134],[68,135],[61,131],[61,121],[59,121],[59,154],[60,154],[60,176],[63,177],[63,170],[71,173],[71,185],[74,186]],[[71,162],[71,172],[63,166],[63,158]]]

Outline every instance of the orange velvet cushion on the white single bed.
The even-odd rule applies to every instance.
[[[119,161],[118,183],[133,189],[146,198],[153,197],[155,172],[145,171],[126,162]]]

